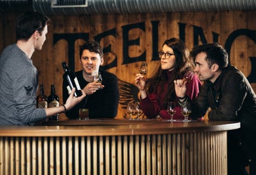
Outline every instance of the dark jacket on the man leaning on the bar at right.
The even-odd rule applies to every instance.
[[[204,116],[209,107],[210,120],[241,122],[241,129],[228,132],[229,146],[237,149],[236,146],[242,145],[251,158],[256,147],[256,95],[246,76],[234,66],[228,66],[213,84],[204,82],[192,102],[192,118]]]

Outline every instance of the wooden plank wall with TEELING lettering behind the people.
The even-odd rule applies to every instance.
[[[15,20],[19,14],[0,12],[0,52],[15,42]],[[255,16],[256,11],[49,16],[51,26],[47,40],[43,49],[34,53],[33,63],[38,68],[39,84],[44,84],[45,93],[49,94],[51,84],[55,84],[62,102],[61,62],[73,62],[74,70],[80,70],[78,53],[84,39],[96,39],[104,48],[110,46],[104,54],[104,65],[109,66],[107,70],[134,85],[141,61],[148,62],[150,76],[158,65],[156,52],[165,39],[178,37],[190,49],[196,44],[210,42],[219,42],[228,48],[231,64],[241,69],[256,90]],[[136,91],[132,93],[138,98]],[[122,102],[127,100],[120,98]],[[118,118],[125,114],[122,107],[120,104]]]

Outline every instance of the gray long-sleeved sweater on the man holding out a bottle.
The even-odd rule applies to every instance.
[[[37,68],[16,45],[7,46],[0,57],[0,125],[33,125],[46,118],[36,108]]]

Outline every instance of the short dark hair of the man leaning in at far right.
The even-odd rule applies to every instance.
[[[228,66],[228,53],[226,50],[217,43],[203,44],[195,46],[190,52],[190,56],[196,59],[196,55],[199,53],[206,53],[206,61],[208,66],[211,67],[212,64],[218,64],[219,68],[226,68]]]

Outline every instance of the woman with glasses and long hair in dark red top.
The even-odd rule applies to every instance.
[[[154,75],[146,80],[143,75],[136,75],[136,86],[140,91],[140,106],[147,118],[160,116],[170,119],[167,113],[167,103],[176,102],[174,80],[182,79],[184,74],[194,69],[192,59],[184,42],[180,39],[171,38],[165,40],[162,50],[158,53],[161,66],[156,69]],[[201,87],[201,82],[196,75],[186,83],[188,98],[196,98]],[[176,106],[174,119],[184,119],[180,107]]]

